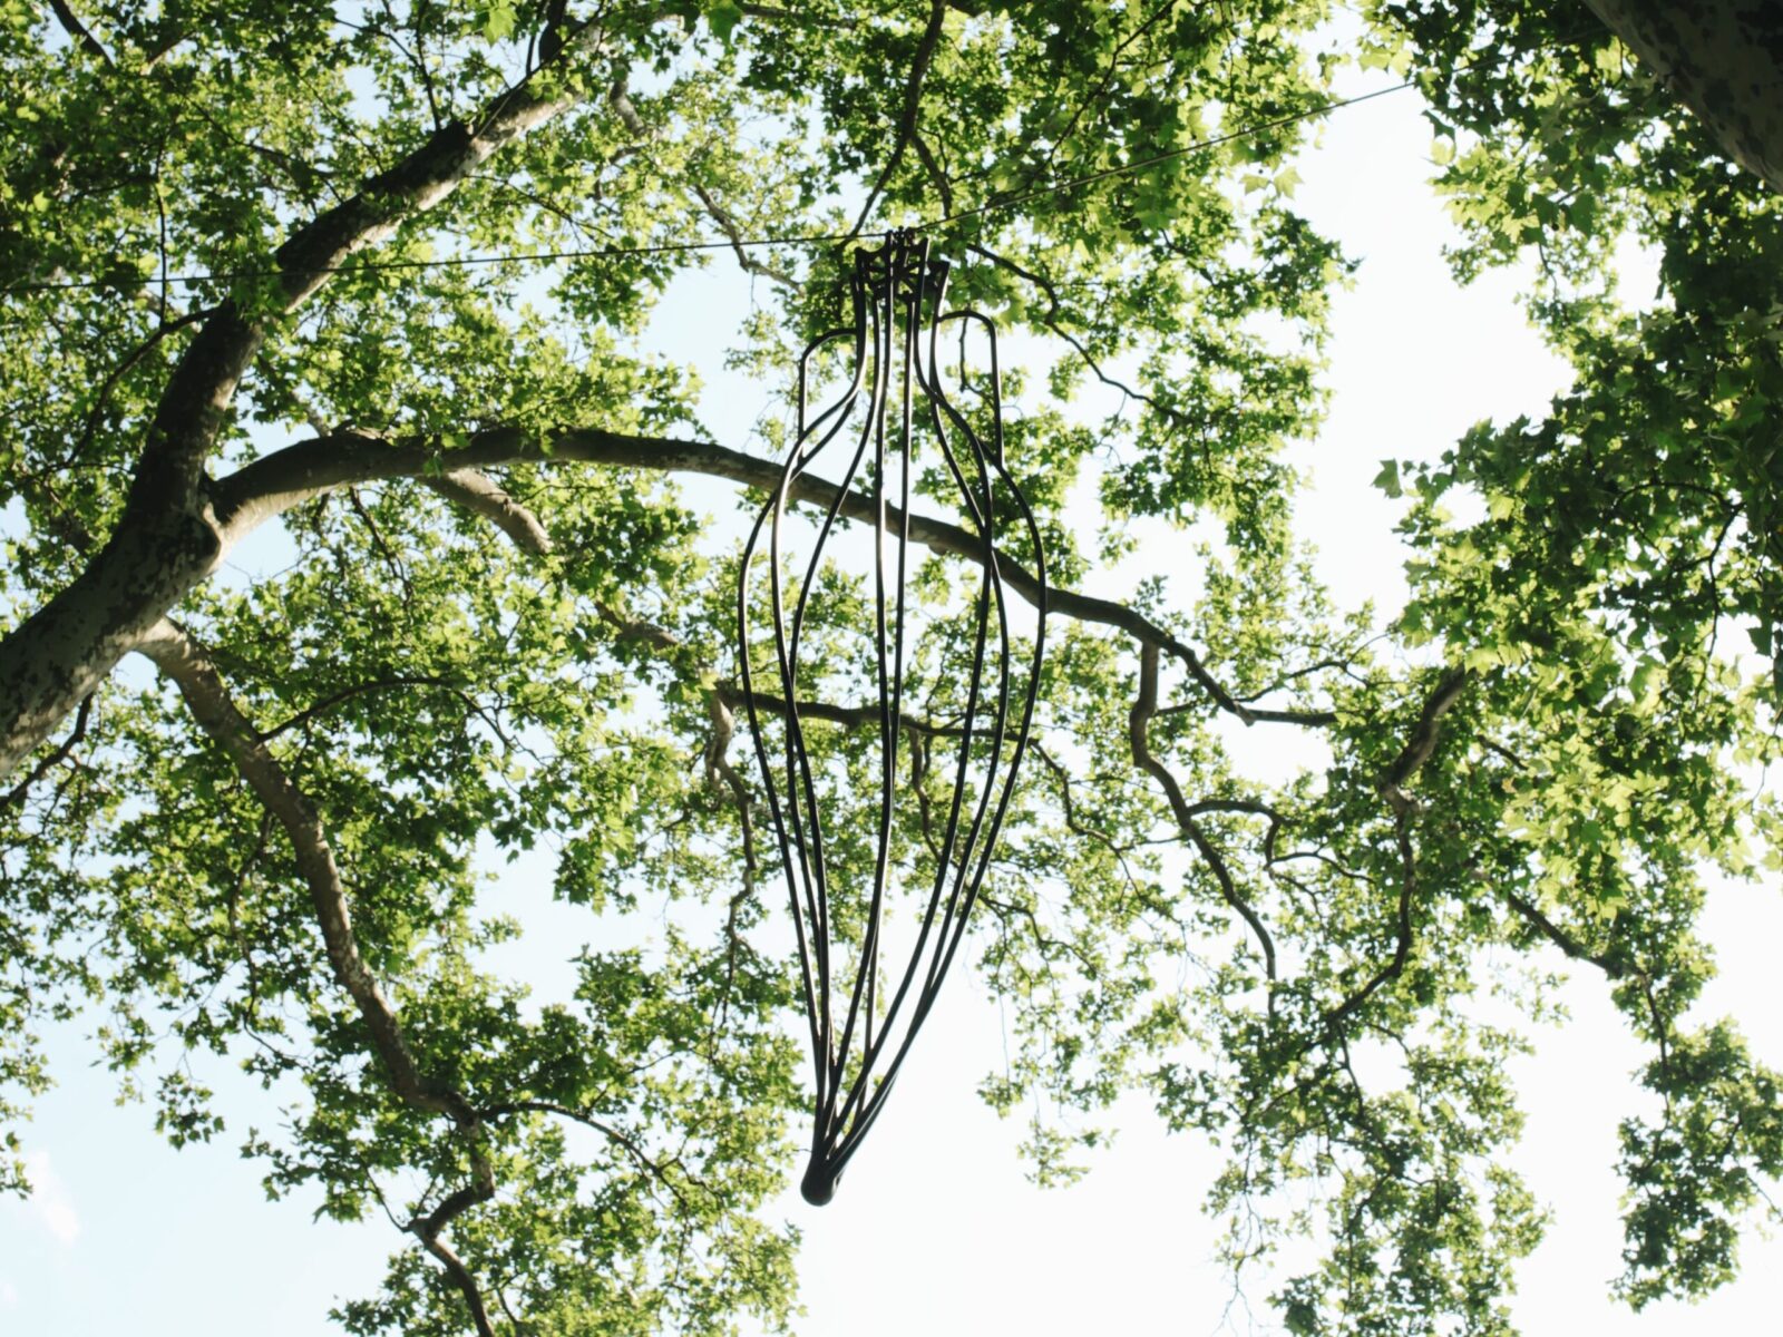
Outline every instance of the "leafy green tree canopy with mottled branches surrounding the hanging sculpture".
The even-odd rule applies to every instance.
[[[637,335],[719,235],[774,292],[736,357],[786,383],[849,248],[925,223],[956,299],[1052,349],[1011,373],[1009,456],[1063,588],[977,938],[1018,1039],[988,1096],[1082,1116],[1034,1127],[1036,1173],[1143,1086],[1232,1150],[1234,1266],[1321,1185],[1289,1330],[1505,1332],[1541,1212],[1496,1161],[1523,1041],[1475,966],[1535,961],[1533,1013],[1560,952],[1653,1046],[1628,1298],[1731,1275],[1783,1114],[1737,1027],[1689,1014],[1692,923],[1706,866],[1778,861],[1778,207],[1583,5],[1364,16],[1362,64],[1430,102],[1457,267],[1537,250],[1532,314],[1580,371],[1541,422],[1385,463],[1414,556],[1385,642],[1332,611],[1277,460],[1316,431],[1350,269],[1291,201],[1325,5],[237,11],[0,9],[9,1114],[48,1080],[32,1025],[103,1009],[177,1144],[225,1127],[185,1054],[301,1082],[250,1143],[269,1187],[412,1237],[351,1332],[785,1323],[792,1241],[752,1212],[792,1164],[795,982],[731,754],[733,572],[670,476],[760,492],[786,439],[708,440]],[[1624,232],[1664,255],[1644,314]],[[1088,381],[1120,412],[1080,421]],[[1138,517],[1212,522],[1193,604],[1077,592]],[[911,524],[941,738],[975,547]],[[232,579],[251,533],[278,569]],[[847,774],[867,738],[834,717]],[[1328,765],[1255,779],[1273,731]],[[900,818],[916,868],[929,820]],[[540,845],[560,897],[669,929],[583,945],[574,998],[530,1004],[480,968],[519,931],[480,850]]]

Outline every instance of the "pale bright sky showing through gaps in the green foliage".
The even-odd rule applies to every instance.
[[[1344,91],[1368,86],[1359,78]],[[1302,531],[1348,606],[1373,599],[1391,611],[1403,597],[1393,537],[1401,503],[1369,485],[1380,460],[1434,456],[1478,419],[1541,412],[1567,381],[1517,307],[1521,275],[1489,275],[1466,291],[1451,283],[1441,260],[1451,232],[1425,185],[1428,152],[1416,94],[1400,93],[1335,112],[1321,148],[1300,166],[1296,201],[1362,260],[1355,289],[1335,307],[1330,417],[1316,440],[1291,451],[1312,478]],[[1630,257],[1631,296],[1651,289],[1644,267]],[[763,399],[761,387],[722,369],[729,323],[719,314],[740,317],[745,301],[747,280],[715,266],[670,292],[654,335],[701,367],[704,419],[720,440],[740,439]],[[1154,542],[1091,588],[1120,595],[1171,551],[1180,544]],[[542,943],[585,927],[549,902],[547,881],[522,863],[501,888],[533,931],[535,948],[515,950],[540,952],[514,966],[533,970],[540,993],[562,977]],[[1783,1064],[1783,1009],[1767,959],[1783,941],[1778,891],[1776,879],[1717,888],[1705,929],[1722,979],[1697,1009],[1737,1016],[1772,1066]],[[1512,1159],[1553,1214],[1548,1241],[1519,1271],[1512,1308],[1523,1332],[1774,1332],[1783,1241],[1749,1239],[1744,1276],[1705,1303],[1658,1303],[1633,1316],[1608,1300],[1621,1248],[1615,1123],[1635,1100],[1630,1071],[1642,1054],[1598,980],[1576,979],[1564,1000],[1571,1020],[1539,1032],[1537,1052],[1516,1064],[1528,1130]],[[20,1132],[37,1189],[29,1202],[0,1202],[0,1333],[333,1332],[328,1307],[373,1291],[385,1253],[403,1239],[382,1219],[310,1221],[314,1202],[301,1194],[267,1203],[259,1166],[234,1148],[248,1125],[276,1121],[275,1102],[226,1068],[205,1077],[230,1114],[228,1134],[173,1152],[143,1105],[114,1103],[112,1075],[91,1066],[87,1029],[48,1038],[61,1086]],[[1200,1200],[1220,1162],[1205,1143],[1164,1136],[1143,1102],[1130,1102],[1113,1118],[1120,1137],[1091,1157],[1080,1184],[1034,1189],[1015,1153],[1018,1121],[998,1121],[974,1095],[1000,1062],[997,1007],[970,972],[956,972],[834,1203],[811,1209],[790,1189],[770,1209],[804,1235],[801,1333],[1273,1330],[1262,1303],[1268,1278],[1252,1280],[1246,1303],[1212,1262],[1216,1226]]]

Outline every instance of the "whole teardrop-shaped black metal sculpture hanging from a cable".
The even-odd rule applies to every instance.
[[[908,232],[892,234],[877,251],[856,253],[852,326],[818,337],[799,358],[797,431],[779,488],[744,547],[738,578],[742,686],[792,895],[811,1027],[817,1111],[802,1180],[811,1203],[834,1194],[934,1005],[1015,793],[1039,686],[1047,578],[1034,515],[1004,465],[997,330],[972,310],[941,314],[947,275],[943,260],[929,258],[927,241]],[[941,383],[940,335],[956,323],[959,403]],[[975,381],[965,369],[972,328],[990,340],[988,376]],[[813,358],[845,340],[852,342],[845,387],[827,408],[808,415]],[[920,392],[924,414],[915,412],[913,392]],[[802,578],[790,586],[783,574],[788,504],[801,496],[806,471],[838,440],[852,440],[854,453],[836,453],[843,456],[838,490],[824,497],[822,519],[802,556]],[[933,447],[938,471],[918,471],[918,444]],[[865,494],[854,490],[856,480]],[[961,529],[970,535],[968,554],[981,572],[968,608],[941,627],[941,649],[931,652],[924,668],[924,711],[940,702],[950,710],[943,720],[911,711],[918,688],[908,681],[915,654],[915,636],[908,635],[916,578],[909,562],[913,488],[957,508]],[[843,533],[849,521],[843,508],[854,497],[849,510],[861,519],[861,496],[870,506],[868,544]],[[1029,603],[1038,610],[1031,624],[1025,610],[1009,606],[997,549],[1000,526],[1025,538],[1034,558],[1034,576],[1022,576],[1031,581]],[[760,638],[770,644],[756,645],[751,565],[763,531],[772,636]],[[827,649],[811,649],[826,638],[813,629],[813,610],[826,592],[843,603],[849,597],[850,586],[833,572],[845,565],[850,544],[856,554],[870,547],[872,586],[872,645],[856,658],[852,681],[877,686],[877,710],[872,704],[838,710],[817,697],[826,686],[836,690],[850,681],[845,635],[831,627]],[[760,594],[754,599],[760,604]],[[768,649],[777,667],[770,679],[777,697],[772,688],[758,686],[760,674],[751,663],[752,652],[765,656]],[[850,761],[834,736],[813,754],[808,722],[863,717],[868,740],[870,726],[877,724],[875,756],[863,759],[856,743]],[[936,749],[943,754],[956,749],[950,788],[940,784],[947,770],[938,765]],[[904,772],[900,758],[908,758]],[[877,804],[859,793],[859,768],[872,772],[874,761]],[[900,790],[915,802],[900,806]],[[945,820],[934,822],[936,813],[945,813]],[[925,890],[925,897],[911,897],[920,918],[906,931],[915,939],[906,959],[890,954],[886,923],[895,909],[892,893],[911,884]],[[886,959],[893,961],[892,970]]]

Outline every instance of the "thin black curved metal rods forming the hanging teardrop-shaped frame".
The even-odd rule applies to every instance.
[[[768,816],[779,843],[799,945],[801,988],[809,1021],[815,1073],[811,1157],[802,1178],[808,1202],[826,1203],[836,1180],[884,1109],[893,1080],[927,1020],[941,982],[965,938],[966,920],[990,870],[997,834],[1015,797],[1016,774],[1027,749],[1039,690],[1039,663],[1047,629],[1047,570],[1034,513],[1004,462],[1000,367],[997,328],[979,312],[941,314],[949,266],[931,260],[929,242],[916,232],[895,232],[877,251],[858,251],[850,275],[852,324],[818,335],[799,358],[797,433],[774,496],[761,508],[744,544],[736,583],[736,638],[745,713],[767,793]],[[984,405],[988,440],[949,398],[941,380],[941,328],[979,326],[990,344]],[[849,340],[849,378],[822,412],[809,415],[808,383],[813,357]],[[961,383],[965,383],[961,357]],[[922,435],[933,439],[945,463],[959,510],[981,551],[981,581],[974,601],[972,667],[965,683],[959,754],[940,841],[931,841],[934,877],[927,891],[909,959],[881,979],[883,927],[888,893],[899,872],[895,857],[899,752],[906,733],[906,651],[909,615],[909,499],[916,476],[918,437],[915,399],[925,414]],[[858,412],[859,410],[859,412]],[[785,574],[786,508],[793,485],[833,442],[854,424],[854,451],[840,485],[817,524],[817,538],[802,563],[790,601]],[[895,467],[895,469],[893,469]],[[856,478],[867,474],[874,501],[874,667],[879,690],[879,793],[872,824],[872,886],[867,888],[865,923],[845,966],[845,943],[834,932],[833,886],[826,857],[826,784],[813,763],[801,718],[801,649],[813,590],[818,588],[826,549],[836,531],[842,501]],[[892,474],[895,472],[895,485]],[[893,496],[895,490],[895,496]],[[997,554],[998,515],[1016,515],[1034,554],[1039,579],[1032,647],[1018,665],[1009,606]],[[767,535],[767,585],[772,651],[779,679],[774,717],[783,758],[770,758],[774,736],[756,697],[756,652],[751,629],[751,569]],[[890,549],[890,553],[888,553]],[[1020,674],[1018,674],[1020,667]],[[1016,677],[1022,677],[1016,686]],[[808,685],[809,686],[809,685]],[[933,747],[933,740],[927,743]],[[779,763],[779,765],[777,765]],[[984,768],[974,775],[974,763]],[[929,775],[927,754],[913,758],[911,783]],[[974,784],[974,779],[979,779]],[[968,804],[968,795],[975,797]],[[829,790],[833,793],[833,790]]]

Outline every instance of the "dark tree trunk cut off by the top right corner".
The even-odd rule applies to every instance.
[[[1783,4],[1585,4],[1696,112],[1728,157],[1783,191]]]

